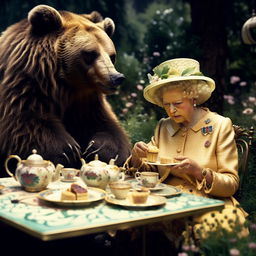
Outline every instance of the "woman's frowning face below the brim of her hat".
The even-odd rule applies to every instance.
[[[184,98],[179,88],[163,93],[163,106],[168,116],[178,124],[188,125],[193,118],[193,99]]]

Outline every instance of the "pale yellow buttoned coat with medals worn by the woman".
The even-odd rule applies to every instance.
[[[181,128],[170,118],[161,119],[149,144],[159,148],[158,156],[160,158],[186,156],[196,161],[201,167],[209,168],[213,175],[210,188],[192,177],[175,173],[182,172],[182,170],[173,171],[169,167],[162,166],[156,169],[156,167],[146,164],[140,170],[158,171],[160,177],[166,172],[170,172],[164,181],[165,183],[179,186],[187,193],[225,201],[223,214],[228,215],[228,218],[225,217],[224,223],[221,221],[224,226],[228,226],[227,222],[230,218],[234,220],[238,217],[239,222],[244,223],[247,213],[243,209],[238,208],[236,209],[237,214],[233,214],[238,202],[232,196],[239,187],[239,176],[237,172],[238,153],[232,122],[229,118],[213,113],[208,109],[204,110],[206,110],[206,115],[188,129]],[[219,215],[219,213],[216,214]],[[231,216],[232,214],[233,216]],[[210,214],[203,215],[198,221],[202,223],[209,217]]]

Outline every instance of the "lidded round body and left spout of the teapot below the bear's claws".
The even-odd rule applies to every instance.
[[[106,189],[109,183],[109,174],[107,164],[99,160],[98,154],[95,155],[93,161],[88,164],[81,158],[82,167],[80,177],[85,184],[91,187]]]

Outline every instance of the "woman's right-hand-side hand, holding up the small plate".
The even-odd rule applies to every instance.
[[[203,168],[197,162],[186,156],[177,156],[174,159],[180,161],[180,163],[175,165],[173,169],[181,170],[184,174],[192,176],[199,181],[203,179]]]

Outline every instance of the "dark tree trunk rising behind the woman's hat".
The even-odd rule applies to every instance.
[[[189,0],[189,2],[192,33],[199,37],[199,47],[202,50],[199,59],[201,70],[216,83],[216,89],[205,105],[221,114],[226,75],[226,15],[229,0]]]

